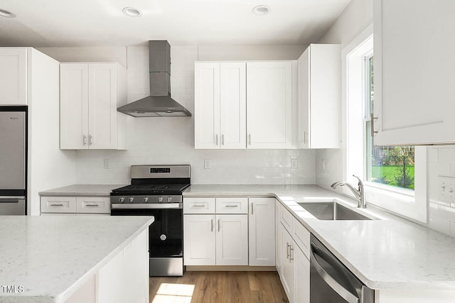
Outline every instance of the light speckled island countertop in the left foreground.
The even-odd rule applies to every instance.
[[[0,302],[64,302],[153,221],[151,216],[1,216],[0,285],[22,286],[23,292],[0,289]]]

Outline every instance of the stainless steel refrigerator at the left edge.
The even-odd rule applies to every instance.
[[[0,215],[27,214],[27,106],[0,106]]]

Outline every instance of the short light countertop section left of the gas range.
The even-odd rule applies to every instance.
[[[38,192],[43,197],[109,197],[112,189],[124,187],[122,184],[73,184]]]

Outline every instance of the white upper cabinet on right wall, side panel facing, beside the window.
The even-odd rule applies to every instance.
[[[311,44],[297,66],[298,148],[339,148],[341,46]]]

